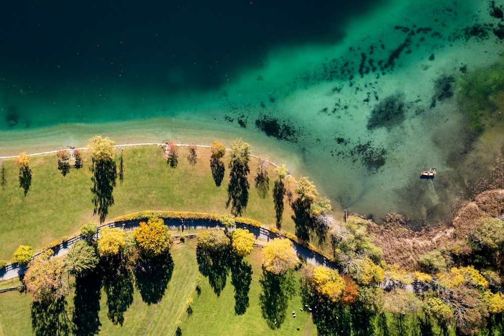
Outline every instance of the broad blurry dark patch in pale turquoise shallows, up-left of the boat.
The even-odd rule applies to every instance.
[[[401,95],[393,95],[385,98],[371,110],[371,117],[367,121],[367,129],[372,130],[379,127],[392,129],[400,125],[405,117],[406,106]]]

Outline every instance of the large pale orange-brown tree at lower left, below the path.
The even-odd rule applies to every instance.
[[[49,259],[44,254],[28,264],[23,282],[33,301],[54,302],[65,296],[67,284],[62,279],[64,269],[61,257]]]

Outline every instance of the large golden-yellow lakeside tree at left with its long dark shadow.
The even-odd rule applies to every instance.
[[[91,171],[93,177],[93,187],[91,188],[94,203],[93,214],[98,213],[100,222],[105,221],[108,214],[108,207],[114,204],[112,192],[117,179],[117,169],[114,155],[114,142],[109,138],[102,138],[95,135],[89,139],[88,148],[93,153]]]

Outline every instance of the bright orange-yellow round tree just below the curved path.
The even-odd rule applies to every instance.
[[[141,221],[140,226],[133,233],[140,253],[146,257],[154,258],[166,252],[170,246],[171,238],[164,220],[151,217],[146,222]]]

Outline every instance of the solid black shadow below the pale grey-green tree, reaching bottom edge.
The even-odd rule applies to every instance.
[[[73,333],[76,335],[95,335],[100,331],[101,275],[94,271],[84,277],[76,277]]]

